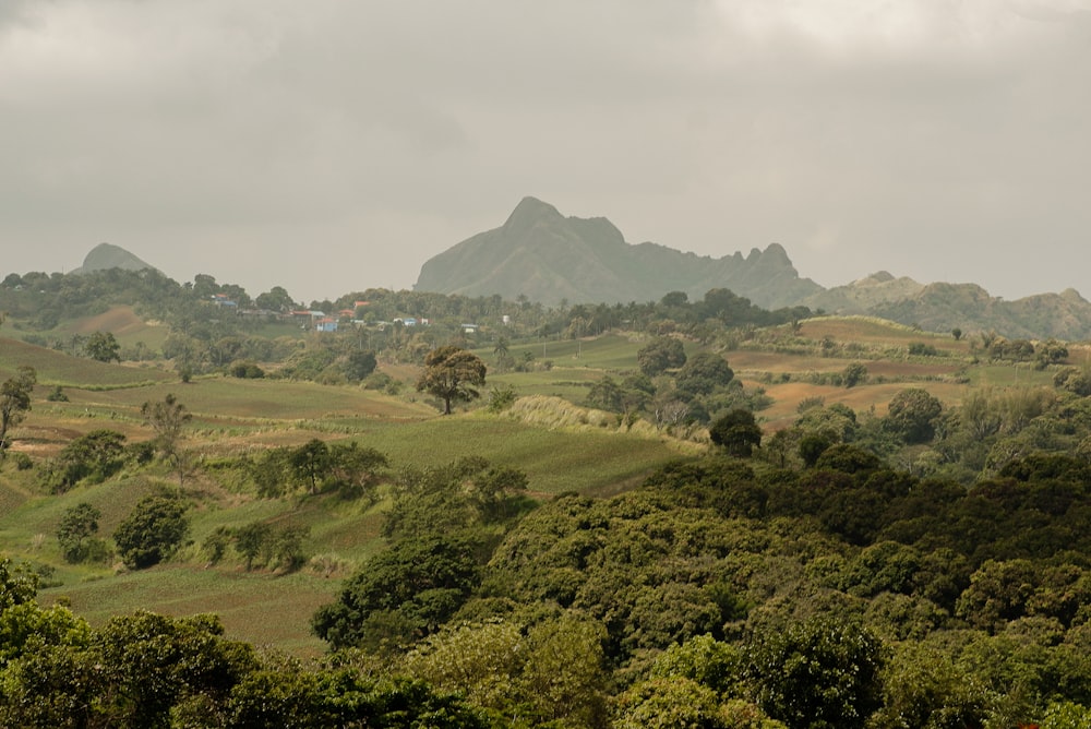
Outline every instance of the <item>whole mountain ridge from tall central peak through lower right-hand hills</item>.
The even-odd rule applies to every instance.
[[[696,300],[726,288],[766,309],[805,306],[931,331],[1091,337],[1091,302],[1075,289],[1005,301],[978,284],[922,284],[887,271],[827,289],[801,277],[780,243],[718,259],[660,243],[633,244],[606,217],[565,217],[532,196],[524,198],[500,227],[428,260],[413,288],[507,299],[523,295],[554,306],[648,301],[670,291]]]

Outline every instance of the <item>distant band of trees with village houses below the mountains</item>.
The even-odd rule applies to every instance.
[[[214,297],[236,306],[219,306]],[[132,306],[140,316],[168,325],[169,335],[160,349],[143,342],[121,347],[112,334],[105,344],[95,340],[107,333],[43,334],[62,321],[103,313],[118,304]],[[465,331],[468,324],[473,325],[472,344],[478,346],[595,336],[614,330],[659,335],[679,332],[707,344],[727,330],[782,324],[811,315],[803,307],[766,311],[726,289],[712,289],[696,302],[673,292],[658,302],[563,303],[551,308],[526,297],[505,301],[500,296],[367,289],[336,300],[312,301],[311,310],[339,319],[341,326],[336,333],[305,335],[301,324],[288,318],[301,307],[305,308],[303,302],[293,301],[279,286],[251,297],[241,286],[218,283],[207,274],[179,284],[153,270],[10,274],[0,284],[0,311],[10,314],[11,328],[24,332],[22,337],[32,344],[103,361],[164,358],[190,375],[218,371],[240,378],[265,377],[272,364],[277,377],[327,383],[363,381],[374,370],[368,358],[419,363],[440,344],[471,346]],[[406,325],[406,320],[418,324]],[[374,386],[389,384],[382,381]]]

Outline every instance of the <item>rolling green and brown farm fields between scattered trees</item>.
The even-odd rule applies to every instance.
[[[128,327],[127,337],[147,337],[156,331],[134,323],[131,311],[112,310],[103,316],[107,319],[88,320],[84,328],[121,325]],[[836,346],[829,348],[824,339]],[[538,499],[570,490],[606,495],[636,486],[657,466],[704,447],[668,438],[645,422],[626,430],[614,415],[588,414],[548,397],[582,404],[590,385],[602,377],[620,381],[635,372],[636,354],[646,342],[647,337],[610,334],[511,345],[517,362],[526,351],[535,361],[550,359],[553,366],[490,373],[483,401],[494,386],[511,385],[527,396],[520,407],[502,415],[461,408],[452,417],[440,417],[412,387],[391,396],[356,386],[218,375],[183,384],[156,368],[104,364],[8,338],[0,338],[0,379],[24,363],[38,371],[43,384],[35,393],[34,409],[13,432],[14,449],[38,458],[56,455],[72,439],[99,428],[120,431],[131,441],[145,440],[151,432],[140,417],[141,405],[169,393],[194,416],[184,447],[197,458],[224,458],[321,438],[374,447],[389,457],[394,471],[480,455],[494,465],[526,471],[531,495]],[[937,352],[910,357],[912,343],[930,345]],[[687,343],[691,352],[695,347]],[[1087,356],[1082,349],[1079,352]],[[495,361],[491,349],[478,354],[489,364]],[[890,399],[908,386],[924,387],[952,406],[972,387],[1044,385],[1053,377],[1026,364],[979,363],[967,342],[866,318],[823,318],[804,322],[799,331],[787,326],[758,331],[723,355],[747,389],[762,387],[771,397],[772,405],[757,414],[769,431],[791,425],[799,403],[808,398],[883,415]],[[851,389],[822,384],[823,378],[853,361],[867,368],[865,383]],[[418,372],[407,364],[383,369],[403,382],[412,382]],[[44,399],[47,387],[55,384],[64,386],[70,402]],[[177,480],[168,473],[123,474],[105,483],[48,495],[35,481],[34,470],[17,473],[5,465],[0,469],[0,551],[53,565],[59,584],[44,590],[43,600],[63,596],[95,623],[142,608],[176,616],[215,612],[231,637],[300,655],[321,652],[322,644],[309,633],[310,616],[333,599],[340,577],[383,547],[384,502],[367,505],[335,497],[262,500],[199,471],[183,487],[195,504],[191,542],[170,564],[125,573],[116,565],[62,562],[53,535],[67,509],[81,502],[95,505],[103,512],[100,535],[108,536],[142,497],[173,485]],[[317,559],[285,576],[248,573],[238,559],[215,566],[206,563],[201,545],[208,535],[218,527],[255,521],[308,527],[307,550]]]

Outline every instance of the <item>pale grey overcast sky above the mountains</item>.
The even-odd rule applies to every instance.
[[[408,288],[525,195],[1091,297],[1091,0],[0,0],[0,275]]]

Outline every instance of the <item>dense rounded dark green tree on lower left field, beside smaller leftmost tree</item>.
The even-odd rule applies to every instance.
[[[142,499],[113,533],[125,566],[143,570],[171,557],[190,528],[185,510],[175,497]]]

